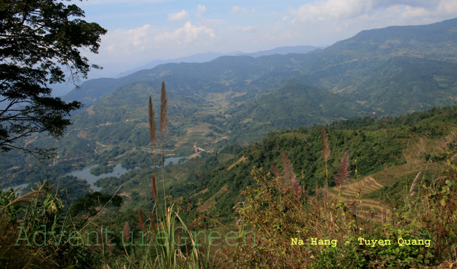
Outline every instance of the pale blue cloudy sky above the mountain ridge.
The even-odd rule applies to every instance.
[[[215,51],[328,46],[371,28],[457,17],[456,0],[83,0],[87,22],[108,30],[91,63],[138,67]],[[121,68],[121,69],[122,69]],[[110,68],[108,68],[109,70]],[[113,72],[113,71],[111,71]],[[107,73],[106,73],[107,74]]]

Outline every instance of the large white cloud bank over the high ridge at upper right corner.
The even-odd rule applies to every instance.
[[[362,30],[457,17],[456,0],[315,0],[293,6],[264,36],[291,44],[332,44]]]

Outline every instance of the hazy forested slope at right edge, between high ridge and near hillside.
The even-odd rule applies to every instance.
[[[456,102],[456,63],[394,56],[328,67],[300,79],[363,104],[371,111],[401,115]]]

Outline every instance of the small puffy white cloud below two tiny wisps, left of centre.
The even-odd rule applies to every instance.
[[[177,28],[173,32],[165,32],[157,35],[155,40],[157,42],[175,42],[181,45],[190,42],[206,43],[213,39],[216,35],[212,28],[207,26],[195,26],[191,22],[186,22],[182,28]]]

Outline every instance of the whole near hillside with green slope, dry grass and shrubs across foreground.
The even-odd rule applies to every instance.
[[[330,149],[328,158],[323,154],[325,144]],[[335,185],[346,151],[350,156],[347,182]],[[107,231],[137,234],[145,231],[141,212],[151,211],[151,206],[154,212],[152,201],[167,197],[168,204],[176,206],[170,212],[176,210],[179,217],[154,220],[149,215],[145,219],[155,234],[174,229],[163,225],[177,225],[187,227],[185,232],[190,229],[188,238],[205,242],[197,250],[187,241],[192,252],[177,252],[189,255],[190,260],[178,260],[184,268],[204,264],[207,268],[233,264],[241,268],[447,266],[457,261],[456,156],[457,106],[452,106],[395,118],[343,120],[325,129],[300,127],[270,133],[247,147],[229,145],[218,154],[203,154],[163,168],[165,193],[151,189],[152,168],[132,170],[119,179],[100,181],[108,194],[92,193],[70,202],[65,219],[60,215],[67,210],[61,204],[65,195],[56,196],[56,191],[45,186],[19,199],[11,192],[3,193],[1,199],[8,211],[1,219],[2,242],[13,245],[17,238],[22,239],[0,259],[11,266],[27,260],[31,266],[54,262],[80,268],[87,264],[108,264],[110,268],[162,264],[161,268],[168,268],[162,259],[168,259],[169,250],[161,254],[161,245],[141,247],[141,238],[122,238],[122,233],[111,234],[109,241],[99,246],[49,241],[47,247],[35,250],[26,245],[21,234],[42,227],[56,232],[65,227],[80,232],[105,227]],[[163,177],[157,174],[153,186],[154,182],[160,186]],[[31,204],[24,203],[27,201]],[[70,216],[71,221],[65,224]],[[207,235],[199,237],[191,231],[232,233],[234,240],[221,245],[221,238],[208,241]],[[246,237],[246,232],[250,236]],[[180,239],[182,236],[186,234]],[[313,238],[332,243],[313,245]],[[383,243],[360,244],[360,238]],[[122,248],[122,242],[129,240],[136,247]],[[117,246],[108,247],[113,243]],[[170,247],[171,253],[177,251],[173,250],[176,245]],[[35,258],[11,259],[23,252]],[[56,256],[62,252],[69,253],[66,259]],[[218,254],[221,252],[225,254]]]

